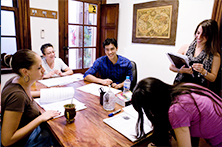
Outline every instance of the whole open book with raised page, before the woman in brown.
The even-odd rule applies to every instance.
[[[58,87],[58,88],[45,88],[40,90],[40,98],[35,101],[44,110],[57,110],[61,112],[59,116],[64,115],[65,104],[73,103],[76,105],[76,111],[85,109],[84,103],[79,102],[74,98],[73,87]]]

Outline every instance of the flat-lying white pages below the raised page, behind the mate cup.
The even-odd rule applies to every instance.
[[[58,116],[63,116],[64,115],[64,111],[65,108],[63,107],[65,104],[70,104],[71,103],[71,99],[67,99],[67,100],[63,100],[63,101],[59,101],[59,102],[54,102],[54,103],[49,103],[49,104],[41,104],[39,102],[39,98],[36,98],[35,101],[44,109],[44,110],[57,110],[59,112],[61,112],[61,114]],[[84,103],[79,102],[77,99],[73,98],[73,104],[76,105],[76,111],[82,110],[87,108],[85,106]]]

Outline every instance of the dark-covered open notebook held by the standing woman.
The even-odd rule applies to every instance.
[[[167,57],[176,68],[181,68],[183,65],[185,65],[186,68],[189,67],[189,61],[186,55],[170,52],[167,53]]]

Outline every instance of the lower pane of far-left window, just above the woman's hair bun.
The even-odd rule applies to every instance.
[[[1,53],[14,54],[16,51],[16,38],[1,37]]]

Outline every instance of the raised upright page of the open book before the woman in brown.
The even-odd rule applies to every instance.
[[[40,89],[40,103],[47,104],[74,97],[73,87],[56,87]]]

